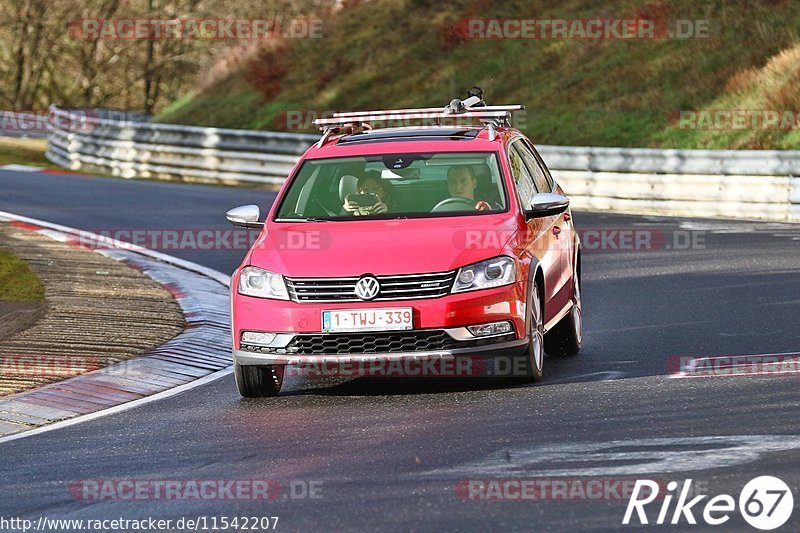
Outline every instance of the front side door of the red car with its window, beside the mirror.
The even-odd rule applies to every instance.
[[[517,195],[523,208],[530,207],[533,196],[538,192],[528,166],[524,162],[522,139],[517,138],[508,145],[508,163],[516,184]],[[528,232],[525,240],[526,253],[535,256],[544,274],[545,322],[550,320],[561,306],[557,296],[562,288],[562,265],[560,242],[554,230],[557,217],[539,217],[527,221]],[[555,303],[555,305],[554,305]]]

